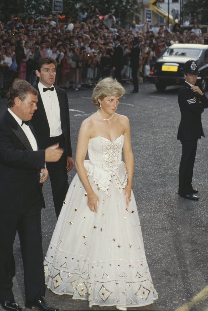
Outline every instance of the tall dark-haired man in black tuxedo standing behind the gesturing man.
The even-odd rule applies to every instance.
[[[40,95],[38,95],[38,110],[33,116],[32,124],[40,148],[59,143],[64,149],[64,154],[58,162],[46,163],[58,218],[69,188],[67,173],[73,167],[68,98],[66,91],[53,86],[57,68],[53,58],[39,58],[36,68],[39,83],[35,88]]]

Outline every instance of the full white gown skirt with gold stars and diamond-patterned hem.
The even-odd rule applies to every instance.
[[[89,301],[89,306],[139,307],[157,299],[145,257],[134,195],[126,207],[124,190],[112,177],[108,195],[89,177],[98,195],[89,210],[75,175],[44,262],[47,287],[58,295]]]

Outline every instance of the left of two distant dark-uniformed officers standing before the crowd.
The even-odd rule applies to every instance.
[[[114,37],[114,50],[113,50],[113,57],[112,57],[112,70],[114,72],[114,78],[117,79],[119,83],[122,84],[122,77],[121,72],[124,68],[123,65],[123,54],[124,50],[120,44],[121,37],[119,35],[115,35]]]

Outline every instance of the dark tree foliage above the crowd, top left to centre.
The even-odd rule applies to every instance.
[[[20,18],[48,16],[52,12],[52,5],[53,0],[5,0],[0,4],[0,10],[2,19],[8,21],[10,14],[18,15]],[[109,10],[114,10],[117,24],[121,27],[131,23],[134,16],[139,21],[140,7],[137,0],[102,0],[99,2],[95,0],[63,0],[63,12],[61,14],[71,15],[76,21],[81,5],[87,10],[94,5],[102,16],[108,14]]]

